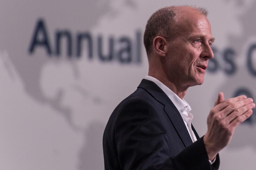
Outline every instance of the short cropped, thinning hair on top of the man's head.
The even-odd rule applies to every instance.
[[[204,8],[192,6],[168,6],[154,12],[148,19],[143,37],[147,55],[149,56],[151,52],[153,40],[156,36],[171,40],[182,30],[180,21],[186,20],[186,16],[189,16],[188,13],[193,12],[205,16],[208,13]]]

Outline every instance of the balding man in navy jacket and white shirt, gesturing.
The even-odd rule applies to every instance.
[[[255,107],[251,98],[219,93],[199,138],[183,100],[201,85],[214,41],[207,11],[171,6],[148,19],[144,45],[148,76],[113,111],[103,135],[105,169],[218,169],[218,152]]]

